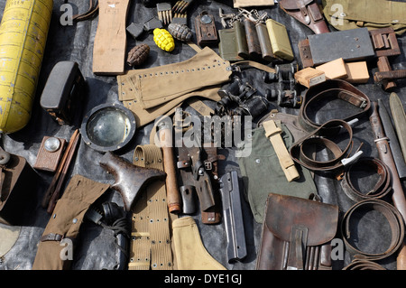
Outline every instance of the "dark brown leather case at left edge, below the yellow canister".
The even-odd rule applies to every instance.
[[[32,187],[37,173],[25,158],[10,154],[5,165],[0,165],[0,223],[22,225],[23,216],[35,197]]]

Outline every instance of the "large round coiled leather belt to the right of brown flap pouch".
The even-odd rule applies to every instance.
[[[386,251],[383,253],[367,253],[361,250],[358,250],[354,246],[349,243],[349,239],[351,237],[349,226],[351,222],[351,218],[355,211],[368,211],[368,210],[377,210],[383,214],[383,216],[388,220],[389,225],[391,226],[392,230],[392,239],[391,245],[389,246]],[[353,207],[346,211],[344,218],[341,223],[341,233],[343,235],[344,243],[346,245],[346,249],[352,255],[354,255],[355,259],[364,259],[364,260],[381,260],[383,258],[392,255],[396,251],[399,250],[403,243],[404,237],[404,222],[403,218],[401,217],[401,213],[398,209],[395,209],[391,204],[385,202],[383,200],[363,200],[356,203]]]

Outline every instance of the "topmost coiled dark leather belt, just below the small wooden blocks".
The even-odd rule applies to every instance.
[[[342,119],[346,122],[359,118],[371,107],[370,99],[350,83],[340,79],[330,79],[308,89],[299,112],[299,123],[308,132],[318,129],[320,124],[309,119],[308,112],[314,111],[315,104],[323,98],[339,98],[355,107],[362,109],[360,112]]]

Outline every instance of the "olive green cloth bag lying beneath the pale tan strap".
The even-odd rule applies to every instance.
[[[293,136],[286,125],[281,123],[278,125],[281,125],[281,137],[289,150],[293,144]],[[253,130],[251,154],[238,158],[238,163],[245,186],[245,199],[249,202],[254,219],[258,223],[263,222],[265,203],[269,193],[305,199],[308,199],[312,193],[318,193],[309,170],[298,164],[296,168],[300,178],[291,182],[286,180],[278,156],[265,136],[263,126]]]

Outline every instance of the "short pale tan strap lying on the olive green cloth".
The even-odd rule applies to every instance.
[[[295,163],[291,159],[291,155],[286,149],[285,144],[281,138],[281,128],[278,127],[273,120],[263,122],[265,135],[270,139],[273,149],[278,156],[281,169],[285,173],[288,181],[293,181],[300,177],[299,172],[295,167]]]

